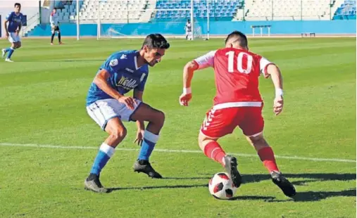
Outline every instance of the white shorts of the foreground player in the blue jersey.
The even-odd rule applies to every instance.
[[[114,117],[119,117],[121,121],[129,122],[130,116],[137,110],[141,101],[135,99],[137,104],[134,110],[130,110],[124,103],[116,99],[99,100],[87,106],[87,113],[92,119],[99,124],[101,129],[106,129],[106,124]]]

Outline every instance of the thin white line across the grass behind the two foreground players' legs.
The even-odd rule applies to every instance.
[[[89,150],[98,150],[99,147],[84,147],[84,146],[53,146],[53,145],[38,145],[38,144],[22,144],[22,143],[0,143],[0,146],[9,146],[9,147],[31,147],[31,148],[58,148],[58,149],[89,149]],[[137,151],[137,148],[115,148],[115,150],[127,150],[127,151]],[[170,150],[170,149],[155,149],[156,152],[165,152],[165,153],[202,153],[201,150]],[[257,155],[253,154],[244,154],[244,153],[230,153],[239,157],[249,157],[257,158]],[[309,160],[309,161],[322,161],[322,162],[356,162],[356,160],[349,159],[338,159],[338,158],[306,158],[306,157],[296,157],[296,156],[280,156],[275,155],[275,158],[279,159],[289,159],[289,160]]]

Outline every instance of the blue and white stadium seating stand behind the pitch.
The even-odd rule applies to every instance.
[[[62,1],[58,10],[60,22],[77,19],[76,2]],[[80,20],[93,23],[146,23],[184,20],[191,8],[190,0],[132,0],[104,1],[80,0]],[[215,20],[334,20],[356,19],[356,0],[216,0],[209,3],[210,18]],[[161,9],[154,11],[155,9]],[[168,11],[165,11],[168,9]],[[206,18],[206,1],[194,0],[194,18]]]

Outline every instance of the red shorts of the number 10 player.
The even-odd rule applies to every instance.
[[[264,129],[261,107],[236,107],[208,110],[201,132],[211,138],[231,134],[235,127],[242,129],[246,136],[260,134]]]

